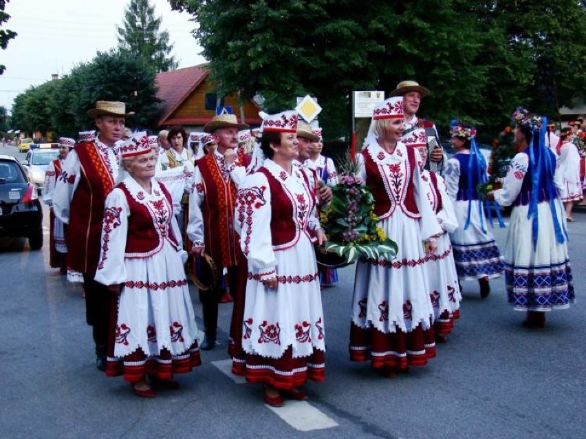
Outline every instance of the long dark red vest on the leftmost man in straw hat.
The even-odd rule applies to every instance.
[[[77,144],[79,185],[73,195],[67,227],[67,267],[94,276],[100,258],[102,222],[113,176],[98,152],[96,142]]]

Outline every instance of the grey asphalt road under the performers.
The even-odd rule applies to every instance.
[[[572,308],[550,313],[543,330],[527,330],[523,314],[506,303],[502,279],[484,300],[475,283],[464,282],[462,317],[448,343],[426,367],[394,379],[349,361],[354,267],[340,270],[338,286],[323,292],[325,383],[308,383],[310,400],[284,409],[269,409],[261,387],[222,372],[230,304],[220,306],[221,346],[202,353],[202,367],[177,376],[180,390],[133,396],[122,378],[96,370],[80,290],[47,268],[48,236],[34,252],[26,239],[0,239],[1,436],[584,438],[586,215],[574,218]],[[506,231],[495,234],[506,239]],[[192,298],[201,328],[195,290]]]

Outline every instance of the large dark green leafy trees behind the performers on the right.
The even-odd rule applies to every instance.
[[[421,114],[440,133],[464,118],[484,140],[515,106],[550,114],[584,89],[583,1],[169,1],[197,22],[219,93],[268,110],[314,94],[329,136],[349,131],[351,90],[404,79],[431,89]]]

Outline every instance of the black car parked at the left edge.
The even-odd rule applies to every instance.
[[[43,247],[43,210],[23,166],[0,155],[0,236],[28,237],[32,250]]]

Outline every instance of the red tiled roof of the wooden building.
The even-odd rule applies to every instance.
[[[158,125],[162,125],[166,118],[171,116],[173,111],[204,81],[209,73],[208,69],[195,66],[157,74],[155,77],[155,84],[159,87],[157,97],[163,101]]]

